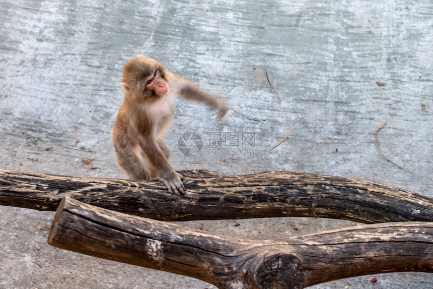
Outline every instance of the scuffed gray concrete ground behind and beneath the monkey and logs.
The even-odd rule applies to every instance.
[[[175,169],[307,171],[433,197],[432,47],[431,0],[0,1],[0,167],[123,178],[109,133],[123,97],[122,66],[140,53],[226,97],[234,109],[216,121],[214,111],[178,100],[166,137]],[[379,156],[375,132],[385,122],[381,150],[410,172]],[[269,151],[291,124],[292,135]],[[177,149],[185,132],[202,137],[199,155]],[[254,143],[227,142],[218,150],[210,142],[216,133],[254,134]],[[46,244],[53,215],[0,207],[1,288],[213,287],[56,250]],[[354,223],[274,218],[184,224],[273,239]],[[372,277],[314,287],[433,284],[426,273],[376,274],[377,283]]]

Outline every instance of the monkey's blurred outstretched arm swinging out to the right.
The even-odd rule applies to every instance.
[[[218,99],[216,96],[206,93],[188,79],[180,78],[171,71],[166,71],[166,73],[169,77],[169,81],[171,82],[169,85],[174,86],[176,92],[180,96],[190,100],[201,101],[212,108],[218,109],[218,117],[224,117],[227,110],[229,109],[227,103],[224,100]]]

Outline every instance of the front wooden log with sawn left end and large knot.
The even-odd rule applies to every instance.
[[[220,288],[303,288],[364,274],[433,272],[433,222],[370,224],[252,241],[204,234],[65,197],[48,243],[191,276]]]

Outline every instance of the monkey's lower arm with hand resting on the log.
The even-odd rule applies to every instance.
[[[168,191],[179,196],[185,194],[185,187],[181,181],[182,176],[171,167],[154,137],[139,137],[139,145],[147,158],[145,158],[145,163],[150,162],[159,180],[166,185]]]

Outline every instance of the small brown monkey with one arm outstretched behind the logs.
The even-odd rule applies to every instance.
[[[174,119],[175,97],[218,109],[219,118],[224,117],[228,105],[147,56],[124,65],[120,86],[123,103],[111,130],[117,166],[132,180],[159,179],[171,194],[184,195],[183,177],[169,164],[170,150],[162,140]]]

